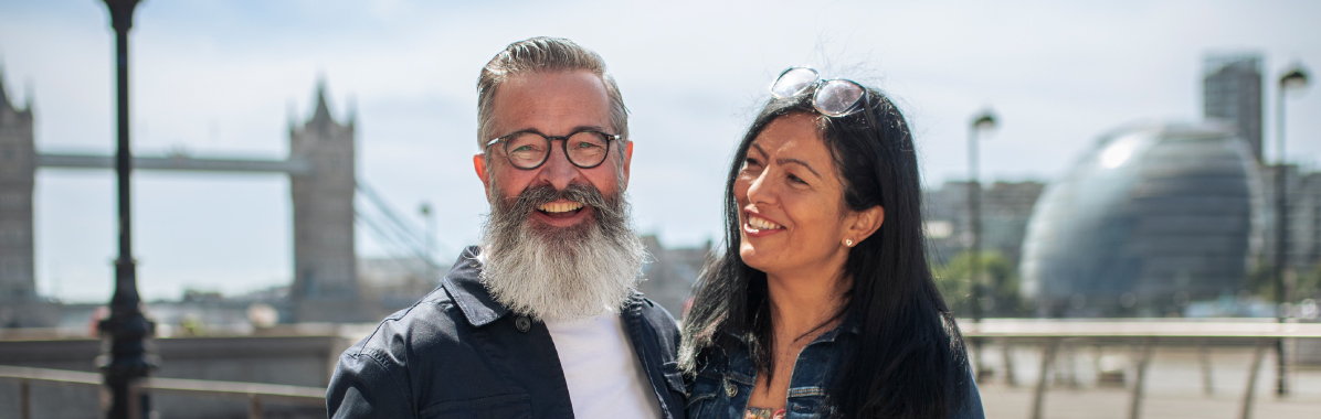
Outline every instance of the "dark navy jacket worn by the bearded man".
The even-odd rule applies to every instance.
[[[332,418],[573,418],[546,324],[491,300],[478,252],[464,250],[439,289],[339,356]],[[674,318],[637,293],[621,316],[664,418],[683,419]]]

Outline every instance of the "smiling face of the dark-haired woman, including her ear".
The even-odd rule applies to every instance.
[[[770,275],[839,273],[848,260],[844,240],[856,245],[871,233],[856,237],[860,213],[843,204],[835,161],[808,113],[778,117],[753,140],[734,199],[738,254]]]

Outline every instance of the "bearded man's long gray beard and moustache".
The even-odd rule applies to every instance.
[[[490,196],[481,281],[510,311],[542,321],[593,318],[620,310],[642,281],[646,246],[629,228],[622,194],[571,184],[528,187],[511,202],[493,187]],[[569,228],[531,221],[532,211],[561,198],[592,207],[593,217]]]

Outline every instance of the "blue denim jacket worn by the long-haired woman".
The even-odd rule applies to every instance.
[[[826,389],[840,369],[840,358],[849,340],[857,339],[856,327],[840,325],[822,333],[798,353],[793,376],[789,378],[789,399],[785,405],[787,419],[830,418],[826,406]],[[748,356],[748,347],[725,353],[721,349],[705,350],[697,360],[697,374],[690,382],[692,393],[688,397],[688,418],[694,419],[742,419],[748,408],[748,398],[757,382],[757,369]],[[982,397],[970,372],[968,397],[956,406],[951,419],[983,419]]]

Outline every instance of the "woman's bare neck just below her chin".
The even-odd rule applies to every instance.
[[[766,293],[777,340],[787,339],[782,340],[785,344],[799,339],[810,341],[838,324],[851,279],[841,270],[794,275],[768,273]]]

